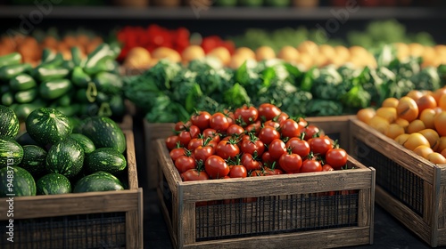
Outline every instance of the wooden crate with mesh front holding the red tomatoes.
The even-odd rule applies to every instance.
[[[373,243],[375,170],[351,157],[355,169],[343,171],[183,182],[164,140],[156,149],[157,192],[176,248]]]

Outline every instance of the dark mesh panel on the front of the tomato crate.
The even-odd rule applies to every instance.
[[[220,201],[195,208],[196,240],[252,237],[358,225],[358,193]]]

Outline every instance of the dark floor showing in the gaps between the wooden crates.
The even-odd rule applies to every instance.
[[[142,122],[134,122],[136,142],[136,163],[140,186],[145,186],[145,150]],[[144,189],[145,217],[144,237],[145,248],[172,248],[169,232],[161,214],[160,202],[154,189]],[[348,248],[389,248],[389,249],[420,249],[431,248],[417,237],[412,231],[404,227],[400,221],[394,219],[379,205],[375,205],[375,228],[373,245],[351,246]]]

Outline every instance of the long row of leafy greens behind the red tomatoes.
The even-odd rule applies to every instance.
[[[339,116],[379,106],[388,97],[444,85],[446,69],[421,68],[419,58],[398,60],[392,46],[376,52],[377,68],[326,66],[301,71],[283,60],[247,60],[224,68],[211,59],[187,67],[161,60],[140,76],[129,76],[124,94],[152,123],[186,120],[196,109],[209,112],[269,102],[291,116]]]

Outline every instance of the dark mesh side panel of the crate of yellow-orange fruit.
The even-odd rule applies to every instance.
[[[376,185],[383,188],[392,197],[407,205],[415,213],[423,214],[424,181],[415,173],[393,162],[362,141],[358,145],[358,160],[363,165],[376,169]]]

